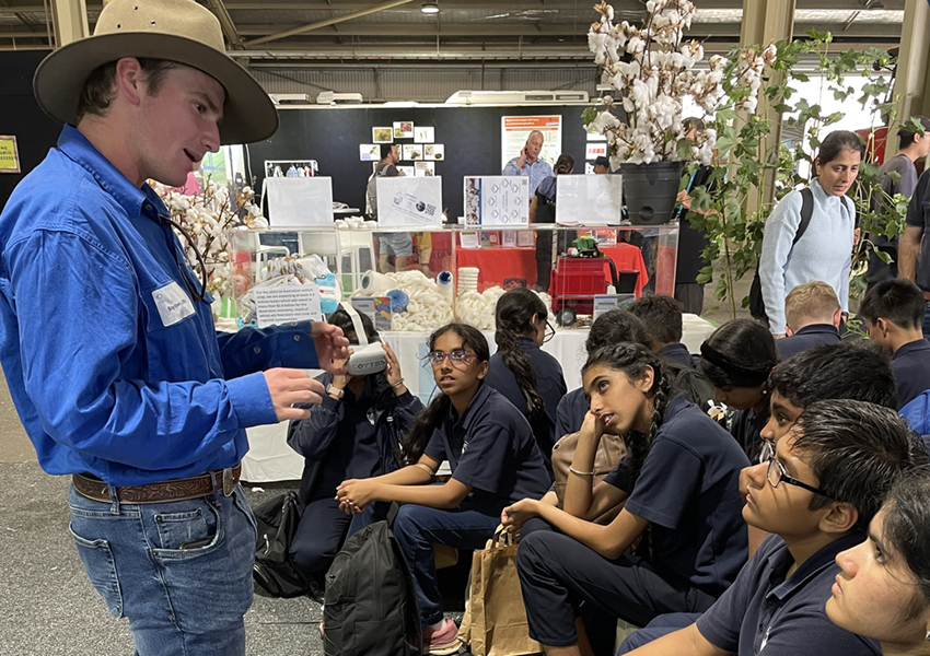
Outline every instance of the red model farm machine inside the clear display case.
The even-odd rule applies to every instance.
[[[614,260],[604,257],[593,237],[579,237],[572,245],[578,255],[560,255],[549,281],[553,312],[559,326],[571,326],[578,315],[594,313],[594,296],[607,293],[605,265],[611,268],[609,282],[617,294],[632,297],[639,278],[639,271],[618,272]]]

